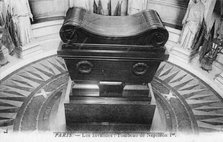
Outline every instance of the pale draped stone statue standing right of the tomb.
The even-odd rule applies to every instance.
[[[205,6],[204,1],[190,0],[187,12],[182,21],[183,30],[179,40],[182,48],[191,50],[195,35],[201,27],[204,18]]]

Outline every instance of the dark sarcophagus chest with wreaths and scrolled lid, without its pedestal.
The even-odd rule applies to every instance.
[[[149,83],[168,57],[164,48],[168,32],[153,10],[102,16],[72,8],[60,36],[64,44],[58,55],[74,81]]]

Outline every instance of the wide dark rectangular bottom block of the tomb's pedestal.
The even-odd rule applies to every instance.
[[[74,97],[65,104],[67,130],[148,131],[156,106],[139,98]]]

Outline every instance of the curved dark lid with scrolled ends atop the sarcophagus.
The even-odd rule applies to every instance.
[[[73,7],[67,11],[60,30],[65,43],[163,46],[168,36],[154,10],[130,16],[103,16]]]

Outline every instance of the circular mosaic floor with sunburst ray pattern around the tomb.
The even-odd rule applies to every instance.
[[[63,60],[56,56],[5,77],[0,82],[0,130],[50,130],[68,79]],[[163,62],[152,87],[167,131],[223,131],[223,99],[193,74]]]

